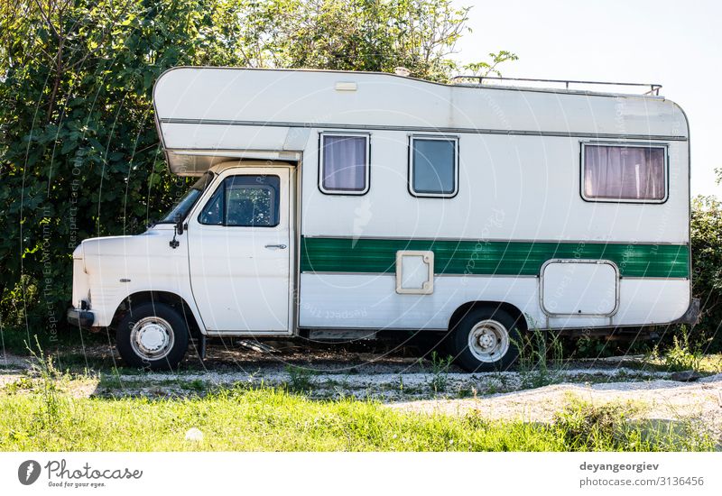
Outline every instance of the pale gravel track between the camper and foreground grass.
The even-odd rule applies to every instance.
[[[109,348],[71,350],[87,363],[104,363],[67,382],[76,397],[182,397],[206,394],[218,386],[284,386],[310,398],[355,397],[380,400],[389,408],[421,413],[489,419],[549,422],[569,395],[595,405],[633,402],[639,417],[696,419],[722,439],[722,374],[694,382],[671,381],[670,372],[650,370],[641,357],[617,357],[566,363],[560,370],[466,373],[451,366],[420,363],[418,351],[379,351],[373,347],[304,347],[297,344],[252,349],[223,345],[200,363],[192,356],[181,372],[114,369]],[[75,359],[76,364],[78,359]],[[0,356],[0,389],[32,372],[23,357]]]

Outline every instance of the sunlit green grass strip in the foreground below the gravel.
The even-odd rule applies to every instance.
[[[703,450],[679,429],[585,424],[577,406],[556,424],[402,413],[374,401],[314,401],[287,390],[235,388],[185,399],[71,399],[0,392],[2,451],[565,451]],[[620,424],[619,422],[623,422]],[[619,436],[620,426],[625,436]],[[202,441],[186,441],[199,428]],[[585,432],[593,432],[592,437]]]

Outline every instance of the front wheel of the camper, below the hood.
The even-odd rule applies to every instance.
[[[125,363],[143,369],[171,370],[188,350],[188,326],[163,303],[143,303],[125,314],[116,330],[116,347]]]

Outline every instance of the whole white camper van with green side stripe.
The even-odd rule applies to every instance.
[[[411,330],[490,370],[532,327],[693,320],[680,107],[535,84],[167,71],[158,133],[198,180],[145,233],[75,250],[69,322],[150,368],[191,337]]]

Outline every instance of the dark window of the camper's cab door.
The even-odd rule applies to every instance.
[[[200,212],[206,225],[274,227],[279,224],[278,176],[232,176],[223,181]]]

